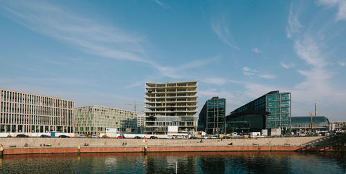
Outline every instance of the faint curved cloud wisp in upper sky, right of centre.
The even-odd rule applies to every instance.
[[[225,17],[217,18],[212,20],[212,31],[217,34],[217,37],[230,48],[239,50],[239,47],[235,44],[232,34],[226,23]]]

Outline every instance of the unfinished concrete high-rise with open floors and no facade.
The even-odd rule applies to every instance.
[[[167,134],[197,130],[197,81],[145,83],[145,133]]]

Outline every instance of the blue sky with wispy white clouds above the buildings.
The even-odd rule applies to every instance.
[[[143,110],[145,82],[198,81],[227,113],[271,90],[346,121],[346,1],[3,1],[0,88]]]

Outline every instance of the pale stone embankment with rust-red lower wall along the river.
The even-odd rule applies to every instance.
[[[258,139],[91,139],[0,138],[3,154],[33,153],[147,153],[210,151],[332,151],[330,137]],[[51,146],[46,146],[50,144]]]

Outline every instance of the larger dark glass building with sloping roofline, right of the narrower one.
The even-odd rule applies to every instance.
[[[227,132],[261,131],[291,126],[291,93],[271,91],[233,110],[226,118]]]

